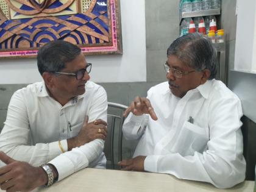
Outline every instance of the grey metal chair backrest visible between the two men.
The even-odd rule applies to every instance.
[[[123,113],[126,108],[126,105],[108,102],[108,132],[104,146],[104,153],[107,158],[107,169],[118,169],[116,164],[122,160]]]

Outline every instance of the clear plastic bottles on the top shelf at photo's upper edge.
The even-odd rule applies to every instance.
[[[197,12],[200,10],[220,9],[221,0],[181,0],[181,12]]]

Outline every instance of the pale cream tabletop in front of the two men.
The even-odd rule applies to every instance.
[[[254,182],[252,181],[245,181],[233,188],[220,190],[208,183],[181,180],[168,174],[85,168],[49,188],[38,188],[35,191],[252,192],[253,190]]]

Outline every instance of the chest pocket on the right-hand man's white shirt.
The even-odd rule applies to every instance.
[[[208,136],[206,127],[199,127],[185,121],[172,148],[182,156],[194,155],[194,152],[204,152],[207,149]]]

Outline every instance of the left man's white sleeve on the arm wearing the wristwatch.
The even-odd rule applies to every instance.
[[[99,87],[98,91],[93,94],[88,117],[88,122],[96,119],[102,119],[107,122],[107,93],[104,88]],[[59,172],[58,180],[62,180],[74,172],[87,167],[89,163],[102,154],[103,149],[104,140],[96,139],[79,148],[74,148],[71,151],[60,154],[49,163],[54,165]]]

